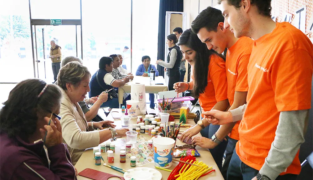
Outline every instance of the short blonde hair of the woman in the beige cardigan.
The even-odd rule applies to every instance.
[[[60,69],[58,74],[58,85],[63,90],[67,90],[66,83],[71,83],[77,87],[86,77],[91,77],[87,67],[83,66],[77,61],[72,61]]]

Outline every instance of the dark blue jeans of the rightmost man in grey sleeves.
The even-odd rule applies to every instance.
[[[237,153],[236,150],[233,151],[233,156],[230,160],[228,171],[227,171],[227,179],[229,180],[251,180],[259,173],[258,170],[249,167],[245,163],[243,163]],[[278,176],[276,180],[296,180],[296,174],[285,174],[282,176]]]

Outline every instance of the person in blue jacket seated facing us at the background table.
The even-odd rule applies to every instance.
[[[150,64],[151,58],[149,56],[142,56],[141,58],[142,64],[138,66],[136,75],[141,76],[150,76],[150,70],[151,68],[156,71],[156,76],[159,75],[159,71],[157,71],[156,66]],[[154,94],[149,94],[149,100],[150,100],[150,108],[154,109]]]

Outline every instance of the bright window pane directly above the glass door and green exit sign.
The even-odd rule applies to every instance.
[[[30,0],[30,10],[32,19],[80,19],[80,0]]]

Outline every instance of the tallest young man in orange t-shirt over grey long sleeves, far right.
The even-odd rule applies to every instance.
[[[248,64],[247,104],[230,112],[208,111],[207,120],[241,120],[228,179],[294,180],[299,148],[311,108],[312,49],[309,38],[289,22],[273,22],[271,1],[220,0],[224,27],[254,39]]]

